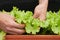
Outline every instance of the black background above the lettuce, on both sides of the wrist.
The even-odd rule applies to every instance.
[[[38,5],[38,0],[0,0],[0,10],[11,11],[13,6],[20,10],[33,11]],[[49,0],[48,11],[58,11],[60,9],[60,0]]]

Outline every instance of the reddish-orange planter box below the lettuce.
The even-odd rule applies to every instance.
[[[7,35],[5,40],[60,40],[60,35]]]

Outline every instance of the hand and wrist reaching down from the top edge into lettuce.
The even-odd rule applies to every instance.
[[[34,10],[34,18],[39,18],[41,21],[45,21],[47,7],[48,7],[48,0],[39,0],[40,3],[35,7]]]

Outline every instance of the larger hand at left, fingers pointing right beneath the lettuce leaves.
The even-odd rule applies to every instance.
[[[18,24],[9,14],[0,13],[0,29],[9,34],[23,34],[24,24]]]

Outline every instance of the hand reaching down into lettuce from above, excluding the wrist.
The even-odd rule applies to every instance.
[[[39,18],[41,21],[46,19],[47,6],[45,4],[39,4],[34,10],[34,18]]]

